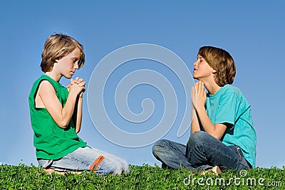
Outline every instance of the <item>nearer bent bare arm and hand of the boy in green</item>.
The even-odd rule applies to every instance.
[[[59,127],[65,128],[71,117],[76,104],[78,94],[81,93],[84,87],[80,87],[77,84],[73,84],[70,87],[70,92],[66,100],[66,105],[62,107],[56,96],[56,90],[53,85],[47,80],[43,80],[38,87],[38,95],[41,97],[43,105],[48,110],[49,114]],[[85,88],[84,88],[85,89]]]

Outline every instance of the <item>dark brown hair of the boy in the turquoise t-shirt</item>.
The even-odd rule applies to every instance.
[[[219,86],[234,83],[234,76],[236,75],[236,66],[232,56],[221,48],[212,46],[204,46],[199,48],[199,56],[214,69],[214,81]]]

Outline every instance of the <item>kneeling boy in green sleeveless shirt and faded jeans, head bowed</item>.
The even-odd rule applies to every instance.
[[[125,159],[88,147],[78,137],[81,130],[83,93],[86,82],[71,79],[67,88],[59,80],[70,79],[85,62],[83,46],[64,34],[47,38],[41,54],[42,75],[28,97],[33,144],[38,163],[52,171],[95,171],[120,174],[129,171]]]

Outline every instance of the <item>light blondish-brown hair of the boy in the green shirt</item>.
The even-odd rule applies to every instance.
[[[41,53],[41,70],[43,70],[44,73],[51,71],[57,59],[67,56],[76,48],[79,48],[81,51],[78,68],[82,68],[85,62],[85,55],[81,43],[62,33],[48,36],[43,46],[43,53]]]

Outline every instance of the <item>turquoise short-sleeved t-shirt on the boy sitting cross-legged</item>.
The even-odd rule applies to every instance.
[[[239,88],[224,85],[214,95],[208,95],[206,110],[213,125],[227,125],[221,141],[227,146],[239,146],[245,159],[254,168],[257,134],[252,122],[251,106]]]

